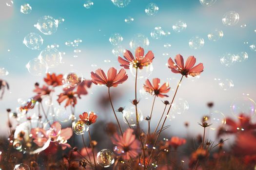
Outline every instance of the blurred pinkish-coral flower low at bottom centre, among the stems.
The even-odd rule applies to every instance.
[[[133,129],[127,129],[123,136],[119,136],[117,133],[111,138],[112,143],[116,145],[117,153],[121,151],[123,159],[128,160],[130,157],[135,158],[140,152],[140,144],[133,134]]]

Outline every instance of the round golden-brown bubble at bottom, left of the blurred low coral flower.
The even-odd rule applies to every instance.
[[[102,149],[97,153],[97,163],[100,167],[108,168],[114,164],[114,153],[109,149]]]

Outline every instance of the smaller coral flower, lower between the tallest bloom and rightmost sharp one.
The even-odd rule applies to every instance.
[[[168,97],[168,95],[164,95],[163,93],[168,93],[170,91],[170,87],[168,84],[164,83],[160,87],[160,79],[154,78],[153,79],[153,85],[150,83],[150,81],[147,79],[145,84],[143,85],[145,91],[152,94],[154,92],[154,95],[163,98]]]

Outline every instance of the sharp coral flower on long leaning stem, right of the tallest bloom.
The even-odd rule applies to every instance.
[[[172,58],[169,58],[168,60],[168,68],[170,68],[172,70],[172,72],[174,73],[180,73],[183,76],[197,76],[199,75],[201,72],[203,72],[203,64],[199,63],[197,66],[195,66],[196,64],[196,58],[194,56],[189,56],[185,67],[184,67],[184,60],[182,55],[177,54],[175,57],[175,63],[173,62]],[[195,67],[194,67],[195,66]]]

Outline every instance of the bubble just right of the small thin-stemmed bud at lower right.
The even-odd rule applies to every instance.
[[[218,110],[214,110],[209,114],[210,122],[209,124],[212,124],[210,128],[212,130],[217,130],[224,124],[226,124],[226,117],[223,113],[221,113]]]

